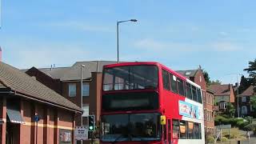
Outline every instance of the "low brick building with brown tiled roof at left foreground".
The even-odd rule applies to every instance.
[[[74,118],[81,114],[73,102],[0,62],[1,144],[74,143]]]

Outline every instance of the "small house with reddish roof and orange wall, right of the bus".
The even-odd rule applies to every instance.
[[[218,106],[218,110],[226,110],[227,103],[234,104],[234,90],[232,84],[211,85],[211,90],[214,90],[214,103]]]

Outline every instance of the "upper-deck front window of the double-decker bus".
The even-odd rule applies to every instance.
[[[103,90],[138,90],[158,87],[158,67],[118,66],[103,72]]]

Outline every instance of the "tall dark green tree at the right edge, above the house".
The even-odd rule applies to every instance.
[[[248,62],[249,63],[249,67],[244,69],[244,71],[247,71],[247,73],[249,74],[249,82],[251,82],[253,84],[253,86],[256,86],[256,58],[254,59],[254,61]],[[254,89],[255,91],[255,89]]]

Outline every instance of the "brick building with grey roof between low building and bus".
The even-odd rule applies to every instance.
[[[70,67],[35,68],[23,70],[26,74],[35,77],[42,84],[62,94],[65,98],[82,107],[84,113],[75,118],[77,126],[87,125],[87,117],[94,114],[96,122],[100,116],[100,96],[102,90],[102,67],[116,62],[90,61],[75,62]],[[81,66],[82,68],[82,91],[81,91]],[[81,96],[82,94],[82,96]]]

